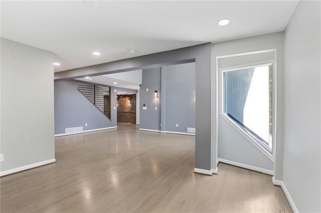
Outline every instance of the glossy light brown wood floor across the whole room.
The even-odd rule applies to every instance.
[[[289,212],[271,176],[193,173],[195,137],[136,125],[56,137],[56,163],[4,176],[1,212]]]

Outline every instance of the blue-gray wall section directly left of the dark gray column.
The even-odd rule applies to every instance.
[[[162,130],[187,132],[187,127],[195,128],[195,62],[163,66],[162,91]]]

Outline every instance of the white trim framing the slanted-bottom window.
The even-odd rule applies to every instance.
[[[267,61],[259,61],[255,63],[249,63],[249,64],[242,64],[238,66],[233,67],[224,67],[220,68],[218,67],[218,59],[220,58],[226,58],[226,57],[235,57],[235,56],[242,56],[242,55],[249,55],[249,54],[259,54],[259,53],[265,53],[265,52],[274,52],[275,56],[273,60],[267,60]],[[270,159],[272,162],[275,162],[275,153],[276,153],[276,116],[277,116],[277,67],[276,67],[276,49],[266,49],[266,50],[259,50],[259,51],[253,51],[253,52],[243,52],[243,53],[237,53],[237,54],[230,54],[230,55],[222,55],[216,57],[216,73],[218,75],[218,106],[219,106],[219,114],[223,119],[225,119],[229,124],[231,124],[238,132],[240,132],[241,135],[243,135],[251,144],[253,144],[259,151],[261,151],[268,159]],[[266,150],[262,145],[260,145],[257,141],[255,141],[250,135],[248,135],[246,132],[243,131],[243,129],[238,126],[230,117],[228,117],[223,112],[223,71],[232,71],[235,69],[240,68],[246,68],[251,66],[258,66],[258,65],[266,65],[266,64],[272,64],[272,75],[273,75],[273,82],[272,82],[272,88],[273,88],[273,94],[272,94],[272,104],[273,104],[273,130],[272,130],[272,154]],[[218,127],[218,126],[217,126]],[[275,164],[275,163],[274,163]],[[275,165],[274,165],[275,166]]]

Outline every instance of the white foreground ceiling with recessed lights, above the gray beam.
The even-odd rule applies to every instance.
[[[1,36],[52,51],[56,71],[284,30],[294,1],[1,1]],[[230,24],[217,21],[229,18]],[[127,49],[137,51],[130,53]],[[93,51],[101,52],[95,56]]]

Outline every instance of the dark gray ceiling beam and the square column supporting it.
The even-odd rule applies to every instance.
[[[211,43],[158,52],[55,73],[55,79],[93,76],[135,69],[196,62],[195,167],[211,170]],[[215,87],[215,85],[213,85]],[[140,103],[141,104],[141,103]],[[142,111],[142,110],[141,110]],[[214,137],[215,138],[215,137]],[[213,152],[216,159],[216,152]]]

